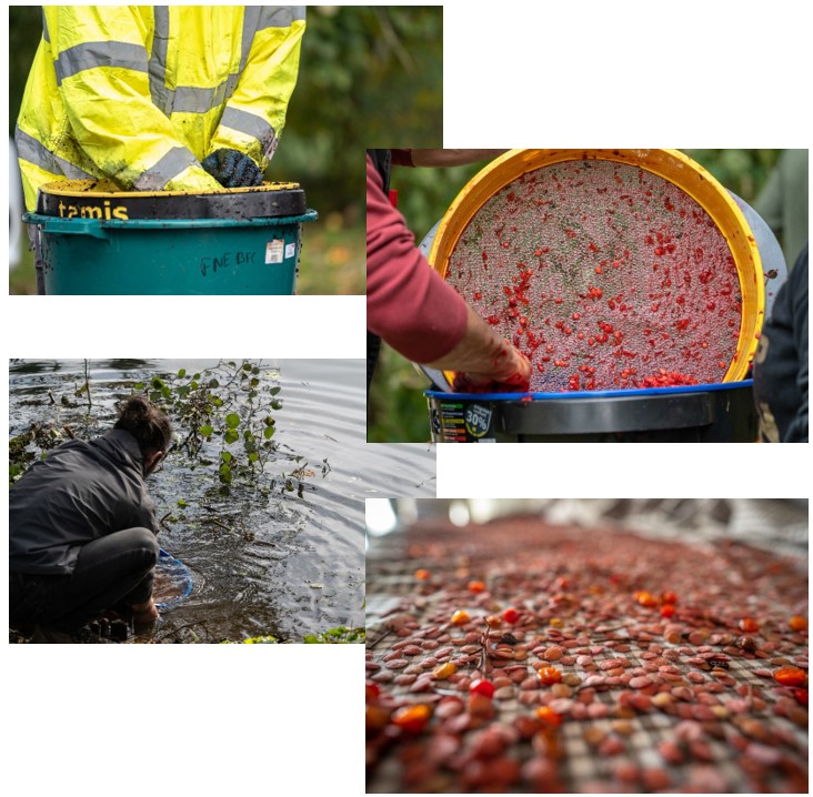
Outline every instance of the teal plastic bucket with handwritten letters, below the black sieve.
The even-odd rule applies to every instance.
[[[23,221],[40,229],[49,294],[283,295],[295,291],[302,224],[318,218]]]

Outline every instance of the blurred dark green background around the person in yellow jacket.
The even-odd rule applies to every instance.
[[[42,34],[38,6],[9,7],[9,137]],[[268,179],[301,183],[319,221],[303,236],[299,293],[363,294],[363,145],[438,147],[442,140],[443,8],[309,6],[299,80]],[[11,152],[12,294],[36,293],[19,223]]]

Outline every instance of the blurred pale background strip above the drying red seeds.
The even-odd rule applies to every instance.
[[[582,528],[623,528],[683,542],[736,539],[805,557],[807,498],[392,498],[367,502],[368,546],[375,537],[432,519],[465,526],[536,516]]]

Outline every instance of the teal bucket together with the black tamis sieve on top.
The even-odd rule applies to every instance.
[[[292,294],[302,224],[318,218],[301,191],[271,184],[210,195],[53,185],[23,216],[39,228],[49,294]]]

